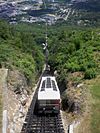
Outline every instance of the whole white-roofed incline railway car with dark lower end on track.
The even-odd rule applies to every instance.
[[[38,113],[59,113],[60,91],[55,77],[42,77],[38,91]]]

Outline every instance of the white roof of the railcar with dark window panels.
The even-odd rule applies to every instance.
[[[55,100],[60,99],[60,91],[57,86],[55,77],[46,76],[42,77],[39,91],[38,91],[38,100]]]

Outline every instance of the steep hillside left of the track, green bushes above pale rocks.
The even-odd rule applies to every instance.
[[[22,128],[45,62],[41,47],[44,30],[41,29],[37,24],[13,26],[0,20],[0,131],[3,104],[7,105],[8,132],[19,133]],[[7,79],[3,79],[5,68]],[[6,94],[4,101],[2,93]]]

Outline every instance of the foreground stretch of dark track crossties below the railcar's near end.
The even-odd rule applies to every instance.
[[[64,133],[60,114],[56,116],[33,115],[31,123],[23,126],[21,133]]]

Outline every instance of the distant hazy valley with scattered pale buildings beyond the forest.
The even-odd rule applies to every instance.
[[[68,25],[99,26],[99,0],[16,0],[0,1],[0,18],[10,23],[45,22],[52,25],[64,22]]]

